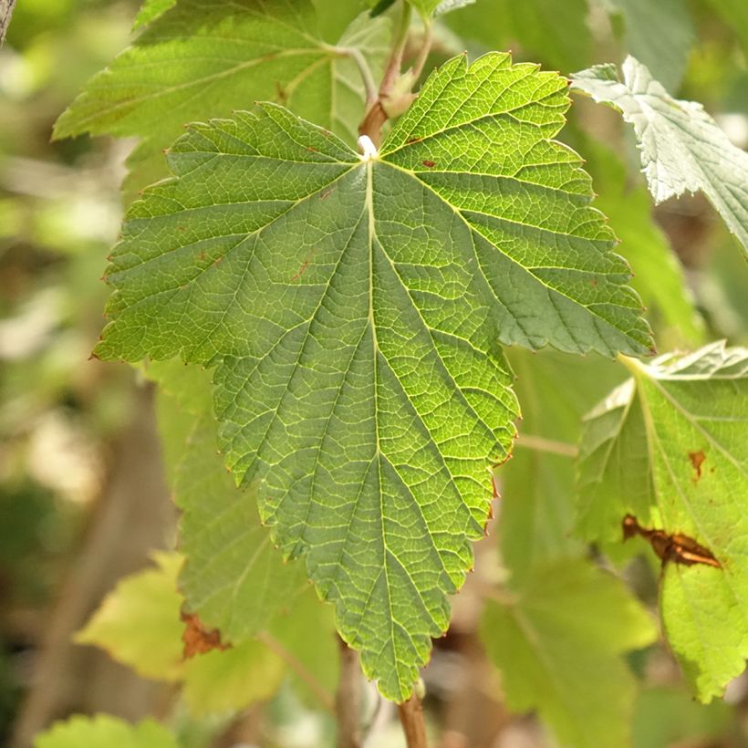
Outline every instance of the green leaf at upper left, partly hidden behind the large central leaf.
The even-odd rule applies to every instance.
[[[355,142],[363,115],[358,68],[326,46],[326,29],[309,0],[166,5],[154,0],[143,8],[150,25],[88,81],[57,119],[55,138],[138,136],[130,189],[164,174],[161,150],[185,124],[229,115],[257,99],[280,101]],[[388,36],[387,18],[361,17],[338,44],[358,47],[376,74]]]

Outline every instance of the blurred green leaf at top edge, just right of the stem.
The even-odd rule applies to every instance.
[[[486,49],[510,49],[518,42],[525,57],[568,73],[592,59],[587,14],[586,0],[566,0],[563,13],[555,0],[480,0],[451,14],[447,24]]]

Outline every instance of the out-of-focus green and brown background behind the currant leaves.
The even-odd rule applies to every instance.
[[[334,12],[334,4],[320,5]],[[348,5],[358,4],[346,5],[352,16]],[[183,745],[207,745],[216,735],[223,735],[220,744],[231,744],[232,734],[238,740],[233,719],[195,721],[174,706],[168,686],[142,680],[103,652],[70,642],[119,577],[146,566],[154,548],[174,544],[150,385],[127,367],[88,359],[102,326],[108,291],[98,279],[119,230],[119,185],[133,143],[87,137],[50,142],[60,112],[128,44],[138,8],[136,0],[20,0],[0,49],[0,744],[10,743],[14,723],[17,744],[25,746],[54,719],[96,711],[128,719],[168,717]],[[745,148],[744,8],[744,0],[597,0],[589,6],[585,0],[480,0],[448,16],[433,61],[465,46],[471,54],[512,48],[518,59],[566,74],[633,51],[671,93],[703,102]],[[488,25],[489,17],[502,23]],[[667,25],[669,19],[675,26]],[[712,338],[744,344],[745,268],[712,208],[699,196],[671,201],[654,211],[656,223],[630,225],[625,211],[632,201],[648,211],[635,147],[613,112],[587,100],[576,103],[564,138],[586,155],[605,203],[600,207],[614,229],[630,235],[629,260],[651,304],[660,348]],[[617,155],[603,153],[600,141]],[[675,259],[667,262],[677,265],[660,275],[656,263],[648,264],[665,256],[662,247],[668,245]],[[669,312],[673,296],[663,298],[661,289],[658,296],[660,279],[673,267],[688,286],[681,302],[696,307],[695,315],[681,315],[680,322],[678,312]],[[525,358],[516,354],[518,370]],[[574,413],[588,403],[569,407]],[[537,418],[539,411],[529,404],[527,410],[531,421]],[[541,421],[538,433],[544,433],[543,423],[550,430]],[[573,442],[576,430],[572,415],[560,436]],[[518,454],[522,465],[533,453]],[[541,474],[545,468],[522,469]],[[566,543],[565,502],[573,481],[564,471],[571,471],[568,461],[542,474],[546,493],[561,497],[560,525],[548,532]],[[508,473],[507,486],[513,481],[516,476]],[[519,481],[515,502],[535,501],[523,490]],[[513,507],[507,504],[506,522],[514,525],[506,526],[521,530],[525,518]],[[514,538],[514,545],[503,547],[505,555],[527,552],[516,547],[516,534],[499,535],[500,542],[504,535]],[[495,548],[481,544],[478,553],[479,562],[484,556],[491,563]],[[484,673],[476,620],[470,595],[461,596],[452,632],[427,670],[434,732],[442,732],[445,748],[548,744],[535,722],[505,712],[498,687],[487,693],[475,685],[493,683]],[[633,664],[654,685],[639,696],[636,748],[686,740],[694,746],[746,744],[744,677],[728,691],[727,702],[700,708],[680,688],[664,652]],[[476,705],[482,708],[479,719],[470,717]],[[264,709],[244,712],[243,720],[242,734],[265,735],[268,745],[319,745],[332,729],[329,716],[320,717],[286,687]],[[398,744],[399,730],[388,730],[381,729],[376,744]],[[459,742],[461,735],[467,743]]]

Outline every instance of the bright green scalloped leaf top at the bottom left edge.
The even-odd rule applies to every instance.
[[[119,717],[76,715],[36,736],[34,748],[179,748],[176,738],[153,720],[129,724]]]

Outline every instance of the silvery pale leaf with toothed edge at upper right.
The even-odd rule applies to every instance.
[[[572,85],[619,109],[634,126],[655,203],[701,190],[748,255],[748,153],[700,104],[672,99],[634,57],[621,69],[623,82],[615,66],[596,65],[575,74]]]

